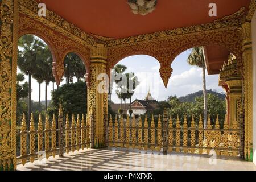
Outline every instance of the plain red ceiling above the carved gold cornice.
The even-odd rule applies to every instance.
[[[217,18],[249,6],[250,0],[158,0],[146,16],[131,13],[127,0],[38,0],[85,32],[124,38],[213,22],[209,3],[217,4]]]

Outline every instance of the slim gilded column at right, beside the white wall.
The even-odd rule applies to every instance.
[[[245,22],[241,28],[243,59],[243,97],[245,109],[245,157],[253,161],[253,57],[251,23]]]

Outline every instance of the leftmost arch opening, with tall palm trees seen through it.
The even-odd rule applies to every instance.
[[[44,120],[48,105],[49,83],[53,89],[55,77],[52,67],[56,59],[55,51],[45,39],[34,34],[20,34],[18,39],[18,60],[16,73],[16,121],[21,126],[26,121],[27,131],[30,122],[38,126],[39,118]],[[45,83],[45,85],[43,85]],[[44,90],[42,92],[42,86]],[[44,100],[42,99],[44,95]],[[44,108],[43,108],[44,107]],[[24,114],[24,117],[23,117]],[[17,135],[17,156],[20,155],[20,135]]]

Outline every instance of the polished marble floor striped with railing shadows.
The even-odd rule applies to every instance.
[[[48,160],[35,160],[33,164],[28,162],[25,166],[18,164],[17,170],[249,171],[256,170],[256,166],[252,162],[234,158],[212,159],[207,155],[162,155],[158,152],[145,153],[144,151],[109,148],[65,153],[63,158],[59,158],[57,155]]]

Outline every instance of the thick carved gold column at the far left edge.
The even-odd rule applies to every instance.
[[[0,170],[16,169],[18,0],[0,1]]]

